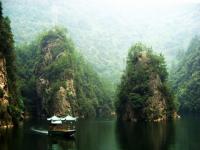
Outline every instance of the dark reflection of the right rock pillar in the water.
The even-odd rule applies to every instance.
[[[121,150],[169,150],[175,140],[174,122],[118,122],[116,133]]]

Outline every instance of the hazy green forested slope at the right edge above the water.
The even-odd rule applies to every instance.
[[[171,82],[180,101],[180,111],[200,112],[200,37],[196,36],[186,52],[177,58]]]

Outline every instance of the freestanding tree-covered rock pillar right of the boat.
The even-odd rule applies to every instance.
[[[132,46],[118,87],[116,108],[123,120],[160,120],[176,112],[162,55],[141,43]]]

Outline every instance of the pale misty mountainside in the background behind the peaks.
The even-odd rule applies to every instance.
[[[119,81],[127,49],[152,45],[171,63],[199,33],[199,5],[131,3],[128,0],[2,0],[17,42],[30,42],[54,25],[67,27],[75,44],[100,75]]]

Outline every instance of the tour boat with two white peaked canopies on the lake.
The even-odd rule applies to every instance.
[[[47,118],[49,121],[48,135],[65,136],[72,138],[76,132],[75,122],[77,118],[70,115],[66,117],[52,116]]]

